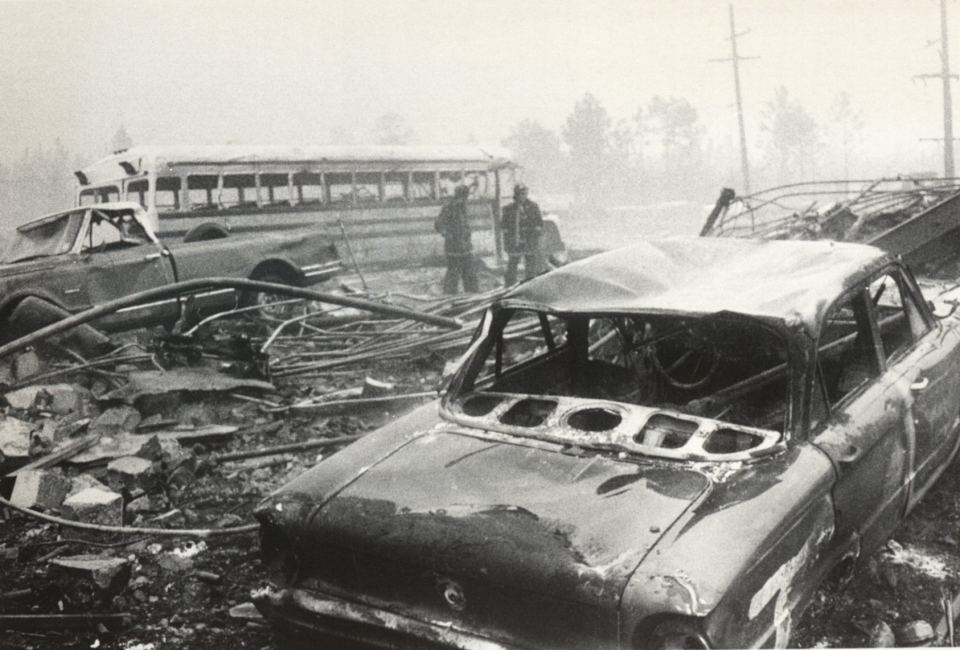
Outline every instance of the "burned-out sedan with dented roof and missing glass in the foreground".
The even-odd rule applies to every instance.
[[[960,323],[878,249],[669,239],[527,282],[439,403],[258,508],[285,629],[784,646],[951,461]]]

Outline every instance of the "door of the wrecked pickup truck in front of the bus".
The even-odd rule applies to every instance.
[[[137,230],[130,215],[91,210],[89,230],[81,244],[90,301],[100,305],[174,282],[172,265],[163,247]],[[104,318],[113,327],[156,323],[176,317],[176,299],[126,308]]]

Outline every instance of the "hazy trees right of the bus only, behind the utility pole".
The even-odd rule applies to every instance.
[[[731,127],[733,119],[731,112]],[[753,187],[849,177],[862,129],[862,110],[846,93],[818,121],[777,88],[754,129],[756,146],[748,146]],[[696,107],[682,97],[654,96],[629,118],[614,119],[588,92],[559,129],[525,119],[503,145],[529,185],[567,196],[574,207],[703,202],[721,187],[743,192],[739,141],[708,138]]]

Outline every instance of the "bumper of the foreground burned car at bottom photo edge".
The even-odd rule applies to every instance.
[[[253,601],[271,623],[312,632],[320,637],[360,642],[391,650],[521,650],[450,622],[422,621],[382,609],[347,602],[304,589],[265,588]]]

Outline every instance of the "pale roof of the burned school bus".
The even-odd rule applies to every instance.
[[[485,168],[511,164],[502,147],[323,145],[150,145],[111,154],[77,172],[81,185],[96,185],[169,165],[350,163],[472,163]]]

